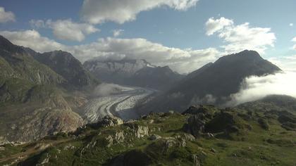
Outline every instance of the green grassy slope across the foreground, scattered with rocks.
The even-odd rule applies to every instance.
[[[47,142],[56,140],[66,140],[66,142],[30,154],[30,158],[23,162],[23,165],[41,163],[48,157],[46,165],[108,165],[112,158],[135,149],[149,156],[152,165],[193,165],[192,154],[198,156],[201,165],[295,165],[296,132],[283,129],[276,118],[266,117],[264,113],[252,115],[249,120],[245,120],[246,115],[247,111],[240,110],[237,123],[247,124],[252,129],[242,128],[240,132],[230,134],[228,137],[215,133],[215,139],[187,140],[184,147],[173,146],[166,150],[164,139],[150,141],[148,136],[137,139],[127,125],[100,129],[87,127],[78,132],[80,136],[77,139],[73,139],[70,135],[44,139]],[[165,138],[184,134],[183,125],[189,116],[177,113],[154,114],[133,123],[147,126],[150,129],[149,134],[159,134]],[[261,127],[257,121],[259,118],[264,118],[268,122],[269,129]],[[152,120],[154,122],[150,123]],[[108,142],[105,138],[109,135],[114,136],[118,132],[125,133],[124,141],[113,142],[112,146],[107,147]],[[37,143],[40,142],[42,141]],[[34,143],[5,146],[6,150],[0,151],[0,156],[7,158],[20,151],[30,151],[28,147],[32,146],[34,147]],[[135,156],[138,153],[135,153]],[[6,160],[1,163],[0,160],[0,164],[11,161]]]

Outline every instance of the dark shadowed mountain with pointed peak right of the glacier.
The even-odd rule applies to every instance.
[[[160,110],[185,110],[192,104],[220,105],[238,93],[245,77],[280,72],[280,68],[259,56],[256,51],[223,56],[215,63],[187,75],[165,94],[157,96],[142,108],[145,113]]]

